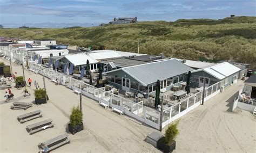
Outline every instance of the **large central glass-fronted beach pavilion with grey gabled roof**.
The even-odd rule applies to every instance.
[[[164,60],[134,65],[106,72],[109,84],[124,91],[143,93],[145,97],[156,93],[160,80],[160,91],[172,89],[173,85],[184,82],[188,71],[193,70],[177,60]]]

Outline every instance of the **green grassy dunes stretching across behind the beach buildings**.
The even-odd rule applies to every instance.
[[[139,42],[139,53],[164,53],[190,60],[205,57],[250,63],[251,68],[256,68],[256,17],[145,21],[97,27],[5,28],[0,35],[28,40],[55,39],[58,43],[95,49],[104,45],[136,53]]]

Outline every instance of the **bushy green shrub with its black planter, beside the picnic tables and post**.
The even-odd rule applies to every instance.
[[[70,114],[69,132],[75,134],[84,129],[83,114],[79,106],[73,107]]]

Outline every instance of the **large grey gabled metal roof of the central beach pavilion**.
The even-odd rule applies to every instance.
[[[161,81],[170,77],[184,74],[193,69],[177,60],[164,60],[117,70],[123,70],[138,82],[146,86],[157,82],[158,79]]]

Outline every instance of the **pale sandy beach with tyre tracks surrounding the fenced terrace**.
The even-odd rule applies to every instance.
[[[5,64],[9,62],[3,60]],[[17,76],[22,76],[22,67],[12,65]],[[28,77],[39,82],[43,87],[43,77],[25,70]],[[15,100],[31,102],[30,97],[23,97],[22,91],[12,88],[15,100],[3,103],[4,90],[0,96],[0,152],[38,152],[37,144],[68,132],[69,114],[73,106],[79,105],[79,96],[62,85],[55,85],[45,79],[49,103],[33,105],[28,110],[11,110]],[[13,84],[14,85],[14,84]],[[206,101],[191,112],[181,117],[174,152],[255,152],[256,119],[250,112],[236,110],[230,112],[231,97],[242,88],[242,81],[234,84],[224,93]],[[17,121],[17,116],[28,112],[41,110],[42,118],[37,118],[23,124]],[[133,121],[126,115],[113,113],[104,109],[90,98],[83,97],[83,122],[85,129],[75,135],[69,134],[70,144],[66,144],[53,152],[160,152],[153,145],[146,143],[145,138],[153,131],[149,126]],[[30,135],[25,127],[51,118],[55,127]],[[163,132],[164,133],[164,130]]]

